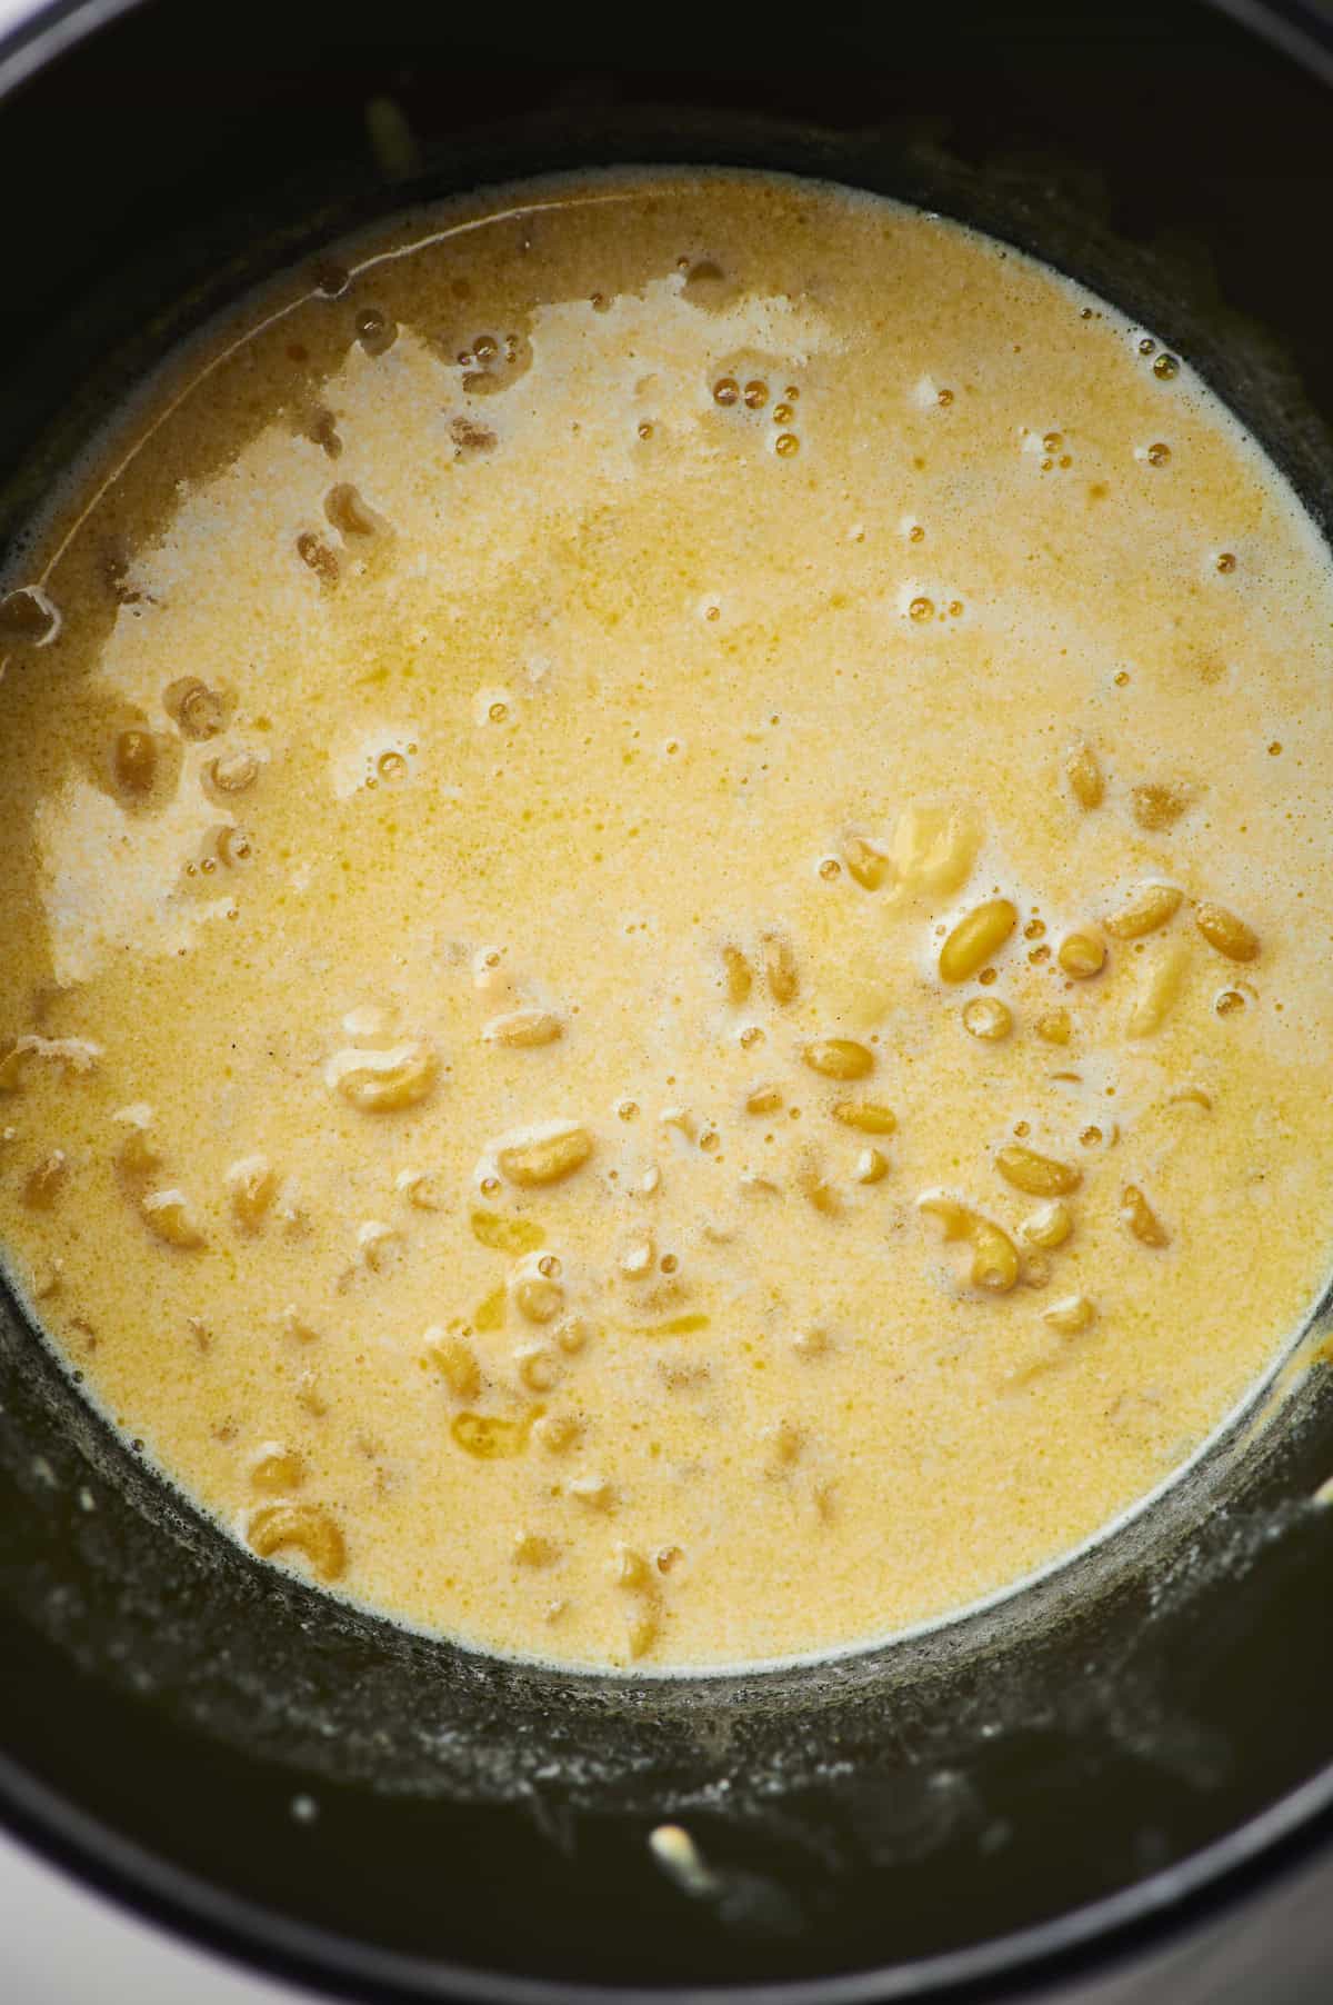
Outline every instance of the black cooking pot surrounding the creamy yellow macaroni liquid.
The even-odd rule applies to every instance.
[[[257,275],[387,209],[617,160],[818,172],[1036,251],[1189,355],[1327,527],[1321,20],[1289,6],[1279,48],[1189,0],[64,0],[0,44],[0,547]],[[397,180],[375,96],[417,140]],[[1259,1955],[1283,1875],[1325,1907],[1327,1375],[1293,1367],[1163,1506],[998,1612],[816,1670],[623,1682],[253,1564],[0,1301],[0,1809],[164,1923],[357,1997],[1002,1997],[1119,1957],[1117,1997],[1181,2001],[1209,1943]],[[694,1883],[647,1845],[665,1821]],[[1327,1995],[1327,1943],[1317,1989],[1285,1933],[1243,1995]]]

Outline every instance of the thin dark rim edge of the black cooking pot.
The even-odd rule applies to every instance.
[[[146,0],[46,0],[0,30],[0,108],[42,68]],[[1291,60],[1333,80],[1333,22],[1299,22],[1269,0],[1209,0]],[[1295,32],[1299,30],[1299,32]],[[377,2001],[473,1999],[485,2005],[870,2005],[912,1997],[1000,1997],[1022,1985],[1145,1955],[1253,1901],[1279,1875],[1333,1857],[1333,1764],[1187,1859],[1102,1901],[968,1949],[822,1979],[754,1985],[625,1987],[519,1977],[403,1955],[295,1921],[176,1867],[0,1752],[0,1827],[130,1913],[235,1963],[333,1995]]]

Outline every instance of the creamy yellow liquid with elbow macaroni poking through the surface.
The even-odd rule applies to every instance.
[[[1327,551],[1149,333],[882,200],[339,257],[8,579],[10,1271],[237,1538],[475,1646],[992,1594],[1327,1267]]]

